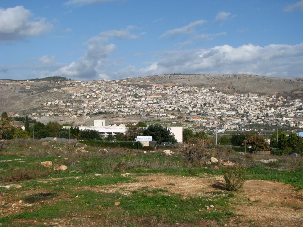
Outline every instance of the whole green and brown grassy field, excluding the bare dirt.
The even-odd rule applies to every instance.
[[[198,180],[208,176],[213,182],[224,173],[225,167],[218,164],[188,163],[178,148],[174,148],[173,156],[165,156],[161,151],[104,151],[105,147],[42,144],[38,140],[10,140],[5,147],[0,154],[2,226],[200,226],[204,222],[224,226],[228,220],[239,218],[234,205],[238,194],[224,186],[203,196],[185,196],[185,192],[171,192],[153,184],[125,191],[139,177],[149,174]],[[303,188],[301,157],[243,156],[222,148],[213,150],[206,159],[211,156],[246,163],[246,179]],[[278,161],[257,161],[268,158]],[[52,167],[42,166],[42,161],[52,161]],[[63,165],[68,169],[54,168]]]

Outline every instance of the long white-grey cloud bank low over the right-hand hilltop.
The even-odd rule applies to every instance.
[[[115,78],[170,73],[252,73],[275,77],[303,77],[303,43],[298,45],[229,45],[209,49],[164,51],[162,59],[146,68],[130,65],[113,74]]]

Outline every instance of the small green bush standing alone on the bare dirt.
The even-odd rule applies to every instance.
[[[246,168],[241,165],[235,167],[227,167],[224,170],[224,179],[226,183],[226,190],[237,191],[245,182]]]

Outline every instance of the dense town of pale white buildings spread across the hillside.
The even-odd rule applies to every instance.
[[[240,123],[303,127],[301,99],[251,93],[224,94],[216,87],[148,82],[134,84],[128,79],[68,81],[61,88],[47,91],[64,92],[64,100],[50,99],[32,115],[76,118],[112,113],[185,119],[206,128],[218,123],[224,129],[234,129]]]

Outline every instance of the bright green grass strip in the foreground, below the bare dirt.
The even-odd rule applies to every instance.
[[[66,192],[65,192],[66,193]],[[51,200],[54,195],[47,198]],[[83,216],[84,214],[98,217],[100,209],[92,204],[103,205],[102,213],[108,217],[117,215],[129,215],[132,219],[144,216],[156,217],[158,221],[173,224],[176,222],[194,222],[199,219],[220,220],[234,216],[230,212],[230,195],[218,194],[211,201],[206,198],[184,199],[181,195],[168,193],[162,189],[144,188],[140,191],[133,191],[131,195],[125,196],[120,193],[100,193],[91,190],[79,190],[65,194],[67,200],[57,201],[54,204],[43,204],[41,207],[31,211],[24,211],[18,214],[8,215],[0,218],[0,223],[16,222],[21,220],[38,220],[45,222],[53,218]],[[39,200],[40,195],[32,196],[32,199]],[[55,197],[61,197],[56,195]],[[24,198],[23,198],[24,199]],[[119,201],[120,205],[114,203]],[[205,206],[214,205],[215,209],[207,210]],[[121,210],[121,209],[122,210]],[[199,211],[200,210],[200,211]],[[9,223],[8,223],[9,222]]]

